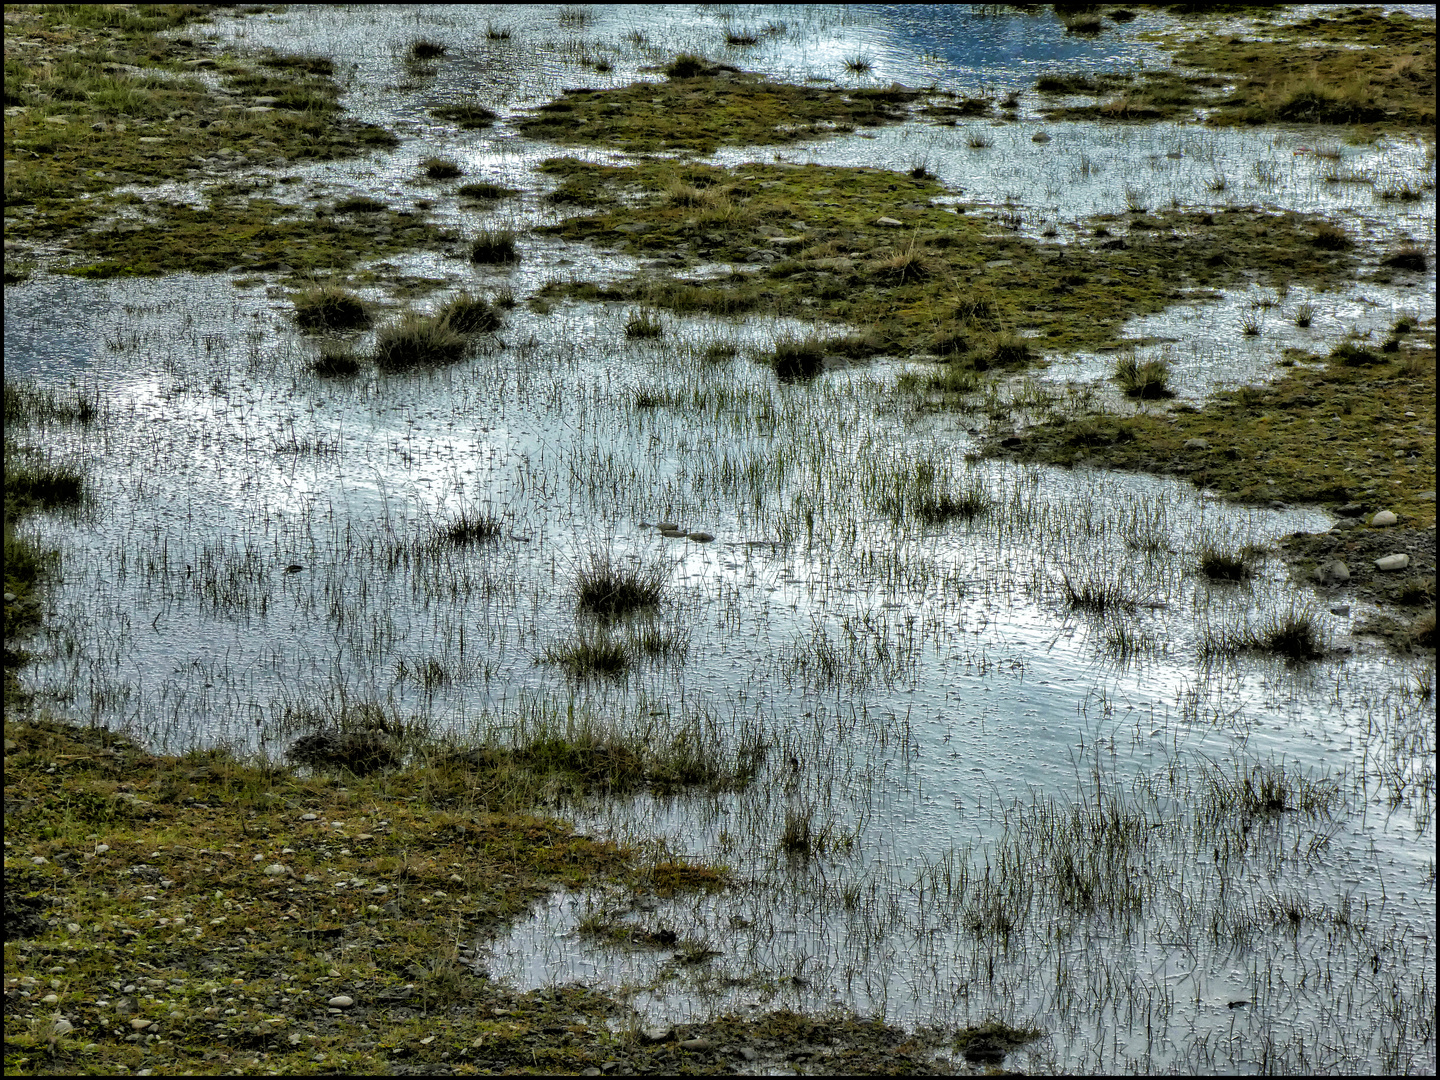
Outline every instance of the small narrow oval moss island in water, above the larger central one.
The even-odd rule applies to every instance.
[[[747,72],[698,68],[690,78],[636,82],[616,89],[573,89],[541,105],[518,127],[531,138],[564,145],[605,145],[631,153],[793,143],[909,115],[919,91],[795,86]]]

